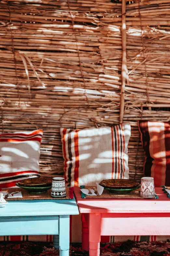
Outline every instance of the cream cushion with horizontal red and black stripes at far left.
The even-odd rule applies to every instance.
[[[42,130],[0,134],[0,187],[39,177]]]

